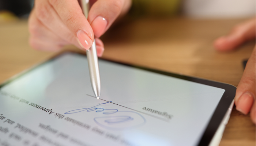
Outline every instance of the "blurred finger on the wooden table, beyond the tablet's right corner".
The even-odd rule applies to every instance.
[[[253,38],[255,38],[255,19],[234,27],[229,35],[218,38],[214,46],[219,51],[230,51]]]

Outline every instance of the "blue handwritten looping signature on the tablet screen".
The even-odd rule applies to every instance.
[[[112,101],[106,102],[110,103]],[[102,103],[102,104],[106,104]],[[101,105],[101,104],[99,104]],[[98,106],[98,105],[96,105]],[[78,112],[102,112],[102,114],[110,115],[114,114],[114,116],[103,116],[103,117],[96,117],[94,118],[94,122],[97,123],[99,126],[109,129],[109,130],[124,130],[127,128],[135,128],[142,126],[146,123],[146,119],[140,115],[138,112],[133,111],[118,111],[117,109],[104,109],[104,108],[97,108],[96,106],[90,108],[81,108],[78,110],[72,110],[65,112],[65,114],[75,114]],[[111,110],[111,111],[107,111]],[[103,112],[105,111],[105,112]],[[121,114],[121,115],[120,115]],[[131,117],[131,115],[133,117]],[[136,119],[136,120],[135,120]]]

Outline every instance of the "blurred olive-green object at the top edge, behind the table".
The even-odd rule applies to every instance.
[[[181,0],[132,0],[129,14],[135,16],[172,16],[178,13]]]

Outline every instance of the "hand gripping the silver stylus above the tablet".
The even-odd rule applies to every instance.
[[[35,0],[29,16],[29,43],[34,49],[58,51],[73,44],[88,50],[94,38],[98,56],[104,51],[99,37],[125,14],[131,0],[91,0],[88,19],[77,0]]]

